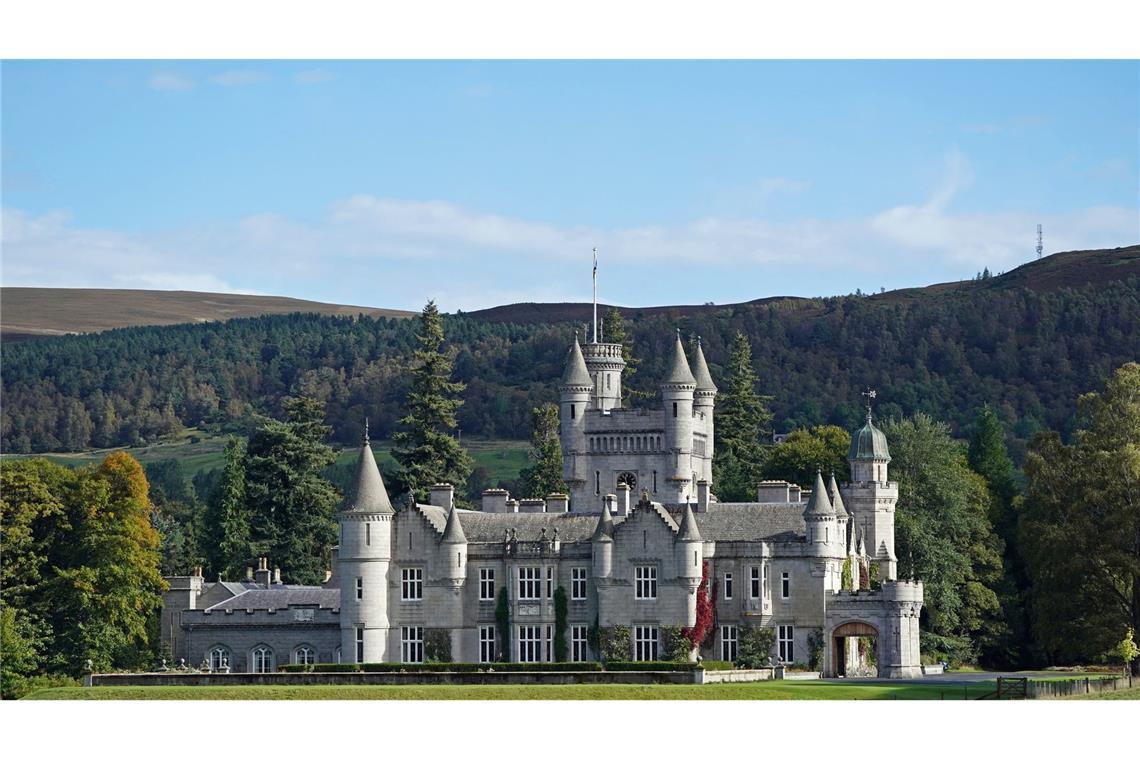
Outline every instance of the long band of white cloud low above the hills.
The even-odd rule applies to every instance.
[[[441,308],[471,310],[588,297],[584,262],[597,246],[603,291],[613,301],[727,303],[923,285],[968,278],[983,267],[1008,270],[1033,258],[1039,222],[1050,252],[1140,239],[1134,209],[955,212],[972,181],[966,156],[952,150],[925,201],[865,218],[707,214],[625,228],[559,226],[445,201],[372,195],[345,198],[316,221],[262,213],[161,235],[83,229],[65,214],[5,210],[0,278],[8,285],[255,291],[392,308],[417,308],[435,296]],[[788,182],[771,186],[796,187]]]

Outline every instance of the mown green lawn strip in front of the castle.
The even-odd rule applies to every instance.
[[[762,681],[708,685],[565,686],[101,686],[49,688],[27,700],[962,700],[993,684],[947,688],[912,684]]]

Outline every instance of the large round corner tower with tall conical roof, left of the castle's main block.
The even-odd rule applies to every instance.
[[[356,481],[339,515],[341,544],[341,657],[382,662],[388,648],[388,569],[392,559],[392,502],[376,467],[365,423]]]

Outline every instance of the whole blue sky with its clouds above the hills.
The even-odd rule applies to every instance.
[[[5,285],[448,311],[1140,242],[1137,62],[5,62]]]

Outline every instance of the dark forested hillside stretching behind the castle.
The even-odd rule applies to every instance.
[[[1096,265],[1090,253],[1100,256]],[[990,404],[1015,444],[1043,427],[1067,433],[1076,397],[1140,357],[1138,261],[1133,246],[1058,254],[956,286],[628,310],[643,360],[632,385],[654,390],[678,327],[702,336],[719,381],[741,330],[760,390],[773,397],[776,430],[849,430],[870,385],[883,417],[922,411],[961,432]],[[1023,271],[1034,265],[1048,272],[1047,285],[1035,270]],[[556,399],[567,346],[580,328],[572,310],[564,317],[573,321],[555,324],[502,316],[445,318],[455,378],[467,386],[464,436],[527,438],[530,409]],[[401,414],[414,330],[402,319],[288,314],[7,344],[2,447],[81,450],[154,441],[182,426],[239,427],[252,412],[278,414],[290,393],[326,404],[334,440],[355,442],[365,416],[374,438],[388,438]]]

